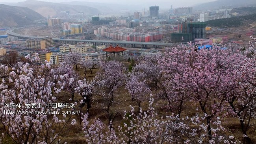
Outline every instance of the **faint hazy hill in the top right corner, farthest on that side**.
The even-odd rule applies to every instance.
[[[219,6],[232,6],[232,7],[256,6],[256,0],[217,0],[217,1],[207,2],[204,4],[199,4],[197,6],[194,6],[193,11],[219,9]]]

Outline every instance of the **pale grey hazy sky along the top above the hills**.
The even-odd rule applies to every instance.
[[[26,0],[0,0],[1,2],[24,2]],[[115,4],[130,4],[130,5],[151,5],[166,7],[186,7],[193,6],[199,3],[211,2],[216,0],[39,0],[45,2],[71,2],[71,1],[85,1],[85,2],[102,2],[102,3],[115,3]]]

